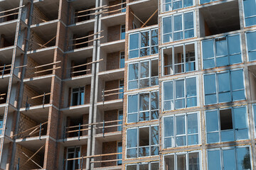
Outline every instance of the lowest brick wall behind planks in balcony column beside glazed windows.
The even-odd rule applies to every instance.
[[[102,154],[117,153],[117,142],[103,142],[102,143]],[[117,155],[110,155],[102,157],[102,161],[117,159]],[[102,162],[102,166],[116,166],[117,162]]]

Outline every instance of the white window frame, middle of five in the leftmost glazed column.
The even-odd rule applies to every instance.
[[[146,121],[151,121],[152,120],[152,117],[151,117],[151,113],[153,112],[153,111],[158,111],[159,112],[159,107],[158,107],[158,109],[156,109],[156,110],[151,110],[151,93],[154,93],[154,92],[157,92],[158,93],[158,95],[159,95],[159,91],[145,91],[145,92],[142,92],[142,93],[139,93],[139,94],[131,94],[131,95],[127,95],[127,114],[126,114],[126,122],[128,123],[128,115],[129,114],[134,114],[134,113],[128,113],[128,108],[129,108],[129,96],[134,96],[134,95],[138,95],[138,103],[137,103],[137,108],[138,108],[138,110],[137,110],[137,122],[136,123],[139,123],[139,122],[146,122]],[[140,103],[140,94],[149,94],[149,110],[147,110],[147,111],[139,111],[139,103]],[[159,98],[158,98],[158,100],[159,100]],[[158,101],[159,102],[159,101]],[[143,112],[149,112],[149,120],[142,120],[142,121],[139,121],[139,113],[143,113]],[[159,118],[158,119],[154,119],[154,120],[159,120]]]

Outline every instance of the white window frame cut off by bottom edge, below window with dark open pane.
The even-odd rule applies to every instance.
[[[250,145],[244,145],[244,146],[233,146],[233,147],[219,147],[219,148],[213,148],[213,149],[207,149],[206,150],[206,162],[207,162],[207,169],[209,168],[209,163],[208,163],[208,151],[220,151],[220,167],[221,170],[223,169],[223,150],[225,149],[234,149],[235,150],[235,162],[236,162],[236,168],[238,168],[238,157],[237,157],[237,148],[242,148],[242,147],[249,147],[249,151],[250,151],[250,166],[252,167],[252,148],[250,147]]]

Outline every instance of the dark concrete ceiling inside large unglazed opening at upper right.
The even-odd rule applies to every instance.
[[[240,29],[238,1],[200,8],[200,14],[213,35]]]

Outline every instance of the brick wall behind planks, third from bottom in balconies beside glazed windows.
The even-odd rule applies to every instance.
[[[119,80],[113,80],[113,81],[106,81],[105,82],[105,91],[107,90],[112,90],[112,89],[119,89]],[[118,93],[119,91],[110,91],[110,92],[106,92],[105,94],[114,94],[114,93]],[[111,101],[111,100],[116,100],[118,99],[119,95],[115,94],[115,95],[111,95],[111,96],[106,96],[105,97],[105,101]]]

